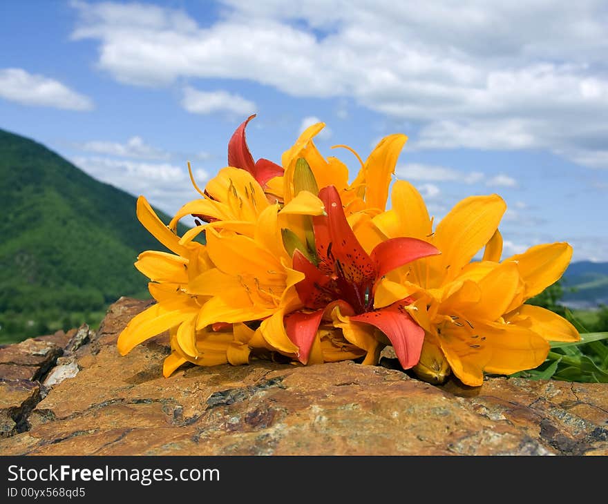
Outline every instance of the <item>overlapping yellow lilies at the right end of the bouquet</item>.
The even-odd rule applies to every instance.
[[[557,314],[523,303],[557,281],[571,258],[569,244],[534,246],[502,262],[497,232],[506,209],[497,195],[459,202],[437,225],[419,193],[397,182],[392,209],[374,217],[387,237],[426,237],[441,255],[403,266],[377,289],[377,306],[412,296],[406,307],[426,330],[419,366],[421,378],[440,382],[448,369],[466,385],[478,386],[484,371],[513,374],[544,362],[548,341],[576,341],[576,329]],[[486,247],[486,258],[471,262]],[[440,353],[439,351],[440,350]]]

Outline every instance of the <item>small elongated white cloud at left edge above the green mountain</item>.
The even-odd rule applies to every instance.
[[[0,69],[0,97],[32,106],[91,110],[93,101],[61,82],[21,68]]]

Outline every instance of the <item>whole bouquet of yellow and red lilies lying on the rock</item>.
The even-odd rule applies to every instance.
[[[561,277],[571,246],[535,245],[501,260],[502,197],[467,197],[435,225],[412,184],[390,187],[405,135],[383,138],[365,162],[339,146],[359,160],[349,182],[348,167],[313,142],[323,123],[307,128],[281,165],[254,161],[245,139],[253,117],[204,191],[188,165],[200,198],[169,224],[138,198],[138,219],[172,253],[137,257],[156,302],[120,334],[122,355],[168,331],[169,377],[187,362],[376,365],[392,346],[422,380],[451,372],[478,386],[484,372],[538,367],[550,341],[580,339],[564,318],[524,304]],[[187,215],[196,226],[179,236]]]

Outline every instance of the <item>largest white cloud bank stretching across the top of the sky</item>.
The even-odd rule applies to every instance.
[[[608,168],[605,144],[589,146],[608,136],[605,2],[223,3],[201,26],[182,10],[76,2],[73,38],[98,41],[99,68],[128,84],[248,79],[408,119],[419,149],[547,148]]]

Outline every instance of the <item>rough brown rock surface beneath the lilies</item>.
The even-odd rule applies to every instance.
[[[167,335],[124,357],[116,350],[148,305],[121,298],[96,334],[81,331],[81,346],[66,351],[75,333],[55,342],[64,356],[38,376],[44,385],[0,368],[2,454],[608,454],[605,384],[488,378],[435,387],[390,369],[390,353],[377,367],[258,360],[188,365],[163,378]],[[39,348],[24,343],[1,352]]]

